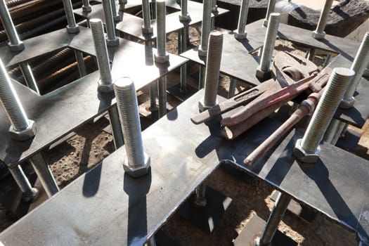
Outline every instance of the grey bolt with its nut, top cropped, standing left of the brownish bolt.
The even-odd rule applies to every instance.
[[[169,55],[167,54],[167,34],[165,32],[165,0],[156,1],[156,26],[157,26],[157,53],[155,53],[155,62],[167,63]]]

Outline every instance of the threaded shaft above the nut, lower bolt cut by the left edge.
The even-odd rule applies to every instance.
[[[4,67],[3,62],[0,60],[0,102],[3,105],[6,115],[11,122],[15,131],[22,131],[29,126],[27,115],[25,110],[20,104],[11,79],[8,77],[8,73]]]

